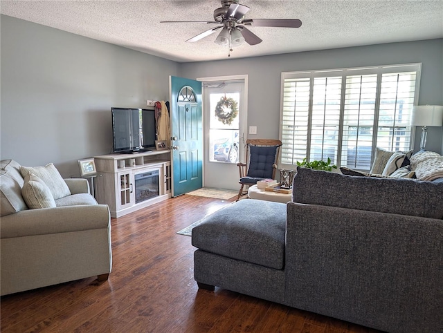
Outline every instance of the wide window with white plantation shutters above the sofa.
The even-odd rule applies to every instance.
[[[282,73],[280,167],[331,159],[370,170],[376,147],[410,149],[420,64]]]

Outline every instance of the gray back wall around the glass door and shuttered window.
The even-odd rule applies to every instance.
[[[443,39],[188,63],[181,74],[191,79],[247,74],[248,126],[257,126],[257,135],[249,137],[278,138],[282,72],[417,62],[422,63],[418,104],[443,105]],[[421,132],[417,128],[415,151]],[[429,128],[426,150],[443,153],[442,136],[442,127]]]

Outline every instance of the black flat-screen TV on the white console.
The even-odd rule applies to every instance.
[[[111,108],[114,153],[136,153],[155,148],[155,111]]]

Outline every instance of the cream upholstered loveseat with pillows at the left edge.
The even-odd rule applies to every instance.
[[[48,184],[42,184],[47,171]],[[109,209],[89,194],[87,180],[63,180],[53,164],[24,168],[14,160],[1,161],[0,173],[1,295],[91,276],[108,278]],[[39,197],[40,186],[48,198]],[[22,193],[29,187],[25,200]],[[29,204],[47,208],[30,209]]]

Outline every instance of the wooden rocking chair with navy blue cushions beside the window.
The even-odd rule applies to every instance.
[[[257,184],[258,181],[271,178],[275,179],[278,157],[280,154],[280,140],[273,139],[251,139],[246,140],[246,163],[237,163],[239,167],[241,184],[237,201],[241,196],[248,193],[244,190]]]

